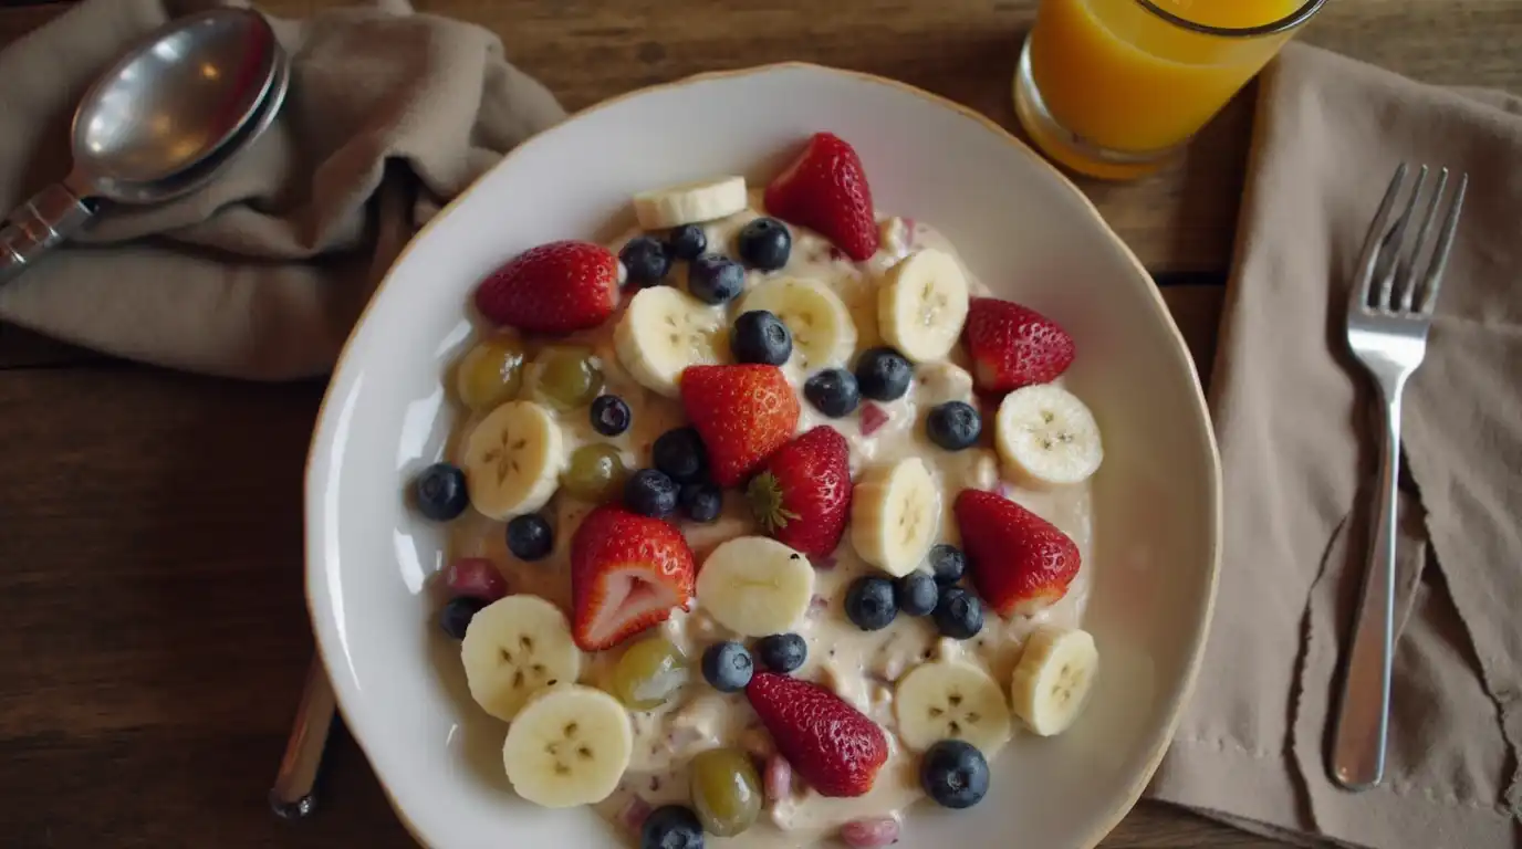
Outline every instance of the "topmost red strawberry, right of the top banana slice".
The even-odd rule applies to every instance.
[[[804,152],[766,187],[766,208],[817,230],[851,259],[877,253],[881,233],[861,158],[839,135],[816,132]]]

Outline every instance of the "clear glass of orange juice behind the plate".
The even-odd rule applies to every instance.
[[[1081,173],[1148,173],[1324,2],[1041,0],[1015,72],[1020,123]]]

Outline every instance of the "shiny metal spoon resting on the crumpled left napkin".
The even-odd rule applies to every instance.
[[[78,233],[102,204],[155,204],[215,176],[269,126],[289,84],[262,15],[213,9],[132,46],[85,91],[73,170],[0,228],[0,285]]]

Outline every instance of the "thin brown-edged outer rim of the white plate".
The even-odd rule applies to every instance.
[[[1105,216],[1099,211],[1099,207],[1094,205],[1093,199],[1090,199],[1088,195],[1085,195],[1084,190],[1079,189],[1078,184],[1073,183],[1073,180],[1062,172],[1062,169],[1059,169],[1050,160],[1047,160],[1040,152],[1032,149],[1027,143],[1024,143],[1003,125],[1000,125],[994,119],[988,117],[986,114],[965,103],[959,103],[956,100],[951,100],[950,97],[936,94],[933,91],[919,88],[918,85],[912,85],[900,79],[868,72],[825,65],[820,62],[790,59],[779,62],[766,62],[758,65],[746,65],[740,68],[700,72],[677,79],[671,79],[667,82],[658,82],[639,88],[632,88],[629,91],[598,100],[580,110],[569,111],[566,113],[565,117],[562,117],[556,123],[519,142],[516,146],[513,146],[513,149],[504,154],[502,158],[498,160],[492,167],[476,175],[476,178],[472,180],[470,184],[467,184],[458,195],[455,195],[455,198],[452,198],[447,204],[444,204],[432,218],[429,218],[423,224],[423,227],[420,227],[417,233],[414,233],[408,239],[408,242],[402,246],[402,250],[397,251],[394,257],[391,257],[385,269],[385,274],[376,283],[374,292],[370,294],[370,298],[365,301],[364,309],[359,310],[359,316],[355,320],[353,327],[344,338],[344,344],[342,347],[339,347],[338,356],[333,361],[333,368],[329,371],[329,383],[323,390],[323,400],[317,408],[317,417],[314,418],[314,426],[312,426],[312,438],[307,443],[306,463],[301,476],[301,571],[303,571],[301,584],[303,584],[303,595],[306,598],[307,619],[312,627],[314,651],[318,660],[321,660],[323,663],[323,674],[329,676],[329,686],[333,691],[335,711],[344,720],[344,726],[353,729],[353,724],[349,720],[349,709],[344,704],[345,695],[341,692],[341,688],[338,685],[332,683],[332,676],[327,673],[329,662],[327,662],[327,650],[324,648],[323,644],[323,627],[318,624],[318,610],[312,598],[312,586],[315,581],[314,575],[321,574],[321,569],[314,569],[314,561],[310,557],[312,552],[310,511],[314,510],[314,505],[309,490],[312,487],[314,458],[317,456],[318,441],[324,432],[324,423],[327,423],[329,418],[327,406],[329,402],[333,400],[333,390],[338,383],[339,373],[344,368],[345,362],[349,361],[350,347],[358,338],[361,329],[365,326],[365,321],[370,318],[370,310],[374,307],[376,301],[380,298],[380,294],[385,291],[385,288],[391,285],[391,278],[393,274],[396,272],[396,268],[400,266],[402,262],[406,259],[406,256],[429,236],[429,233],[437,224],[440,224],[449,215],[452,215],[457,210],[457,207],[466,201],[466,198],[469,198],[476,189],[479,189],[481,183],[489,175],[507,166],[507,163],[514,155],[517,155],[525,146],[542,142],[542,138],[551,134],[554,129],[633,97],[641,97],[645,94],[653,94],[658,91],[667,91],[673,88],[682,88],[688,85],[697,85],[702,82],[712,82],[717,79],[763,76],[767,73],[787,72],[787,70],[805,70],[813,73],[843,76],[855,79],[858,82],[868,82],[872,85],[884,85],[889,88],[895,88],[904,94],[910,94],[913,97],[925,100],[930,105],[950,110],[953,113],[960,114],[962,117],[974,120],[976,123],[982,125],[985,129],[992,132],[997,140],[1009,145],[1027,160],[1035,161],[1038,167],[1044,169],[1049,176],[1055,178],[1062,187],[1065,187],[1078,198],[1079,207],[1094,219],[1094,222],[1099,225],[1099,230],[1105,234],[1105,237],[1114,243],[1114,246],[1120,251],[1120,256],[1123,256],[1126,262],[1129,262],[1135,268],[1137,274],[1148,283],[1146,289],[1148,294],[1151,295],[1152,310],[1163,320],[1163,324],[1172,335],[1175,359],[1181,362],[1193,385],[1195,390],[1192,393],[1192,399],[1195,402],[1193,412],[1196,414],[1199,423],[1202,423],[1204,426],[1202,431],[1205,434],[1205,447],[1207,447],[1205,453],[1208,461],[1205,488],[1210,499],[1210,513],[1212,513],[1208,526],[1208,537],[1210,537],[1208,586],[1205,587],[1205,595],[1204,595],[1204,612],[1199,619],[1199,633],[1192,641],[1193,645],[1186,663],[1184,683],[1183,688],[1178,691],[1177,698],[1173,700],[1172,709],[1169,711],[1169,721],[1167,726],[1163,729],[1166,733],[1161,736],[1161,742],[1154,746],[1152,752],[1148,755],[1145,768],[1135,776],[1135,781],[1131,784],[1131,787],[1126,788],[1125,796],[1119,797],[1117,803],[1111,806],[1108,817],[1096,820],[1096,823],[1099,823],[1097,828],[1090,829],[1088,834],[1084,837],[1084,840],[1079,841],[1078,844],[1078,849],[1094,849],[1135,808],[1137,802],[1142,799],[1143,791],[1146,790],[1146,785],[1152,781],[1152,776],[1157,773],[1158,765],[1161,765],[1163,758],[1167,755],[1167,750],[1173,742],[1173,735],[1178,730],[1178,724],[1183,720],[1184,708],[1187,706],[1187,703],[1193,695],[1195,685],[1199,677],[1199,666],[1202,665],[1204,660],[1205,644],[1208,642],[1210,636],[1210,627],[1215,619],[1216,593],[1221,583],[1221,549],[1222,549],[1222,531],[1224,531],[1224,510],[1222,510],[1222,494],[1221,494],[1222,472],[1221,472],[1221,447],[1216,443],[1215,424],[1210,417],[1208,402],[1205,400],[1204,385],[1199,380],[1199,371],[1195,368],[1193,358],[1189,353],[1189,344],[1186,342],[1183,332],[1178,329],[1178,323],[1173,321],[1173,315],[1172,312],[1169,312],[1167,303],[1163,300],[1163,292],[1161,288],[1157,285],[1157,280],[1146,269],[1146,266],[1142,265],[1142,260],[1137,259],[1135,251],[1132,251],[1131,246],[1126,245],[1126,242],[1120,237],[1120,234],[1116,233],[1113,227],[1110,227],[1110,222],[1105,221]],[[396,814],[397,822],[402,823],[402,828],[406,829],[406,832],[412,837],[414,841],[417,841],[419,846],[425,849],[437,849],[432,843],[429,843],[423,837],[422,829],[416,823],[412,823],[411,817],[406,814],[406,811],[397,800],[396,794],[391,791],[391,787],[387,784],[385,777],[380,774],[379,770],[376,770],[374,758],[371,756],[368,742],[353,730],[350,730],[350,738],[355,741],[355,744],[364,755],[365,764],[370,767],[370,773],[374,776],[376,784],[380,787],[380,793],[385,796],[387,803]]]

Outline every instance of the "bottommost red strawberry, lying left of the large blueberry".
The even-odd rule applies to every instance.
[[[746,685],[776,750],[820,796],[861,796],[887,761],[883,729],[828,689],[775,673]]]

